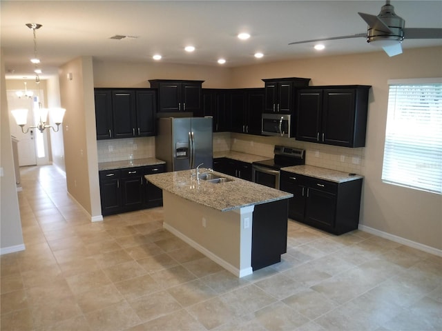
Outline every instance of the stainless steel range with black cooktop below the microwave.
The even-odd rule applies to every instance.
[[[305,164],[305,150],[276,145],[273,159],[252,163],[252,181],[279,190],[280,169]]]

